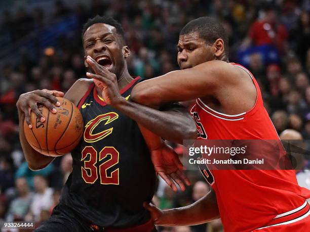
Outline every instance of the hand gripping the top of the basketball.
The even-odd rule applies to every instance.
[[[19,96],[19,99],[16,103],[17,109],[19,113],[23,113],[25,115],[26,123],[29,128],[32,128],[32,124],[30,121],[30,113],[33,111],[36,117],[40,119],[41,122],[45,121],[45,117],[42,115],[42,112],[37,107],[37,104],[41,104],[48,108],[52,113],[56,114],[57,110],[55,106],[60,106],[60,102],[58,102],[56,97],[63,97],[63,92],[56,90],[34,90],[31,92],[26,92]]]

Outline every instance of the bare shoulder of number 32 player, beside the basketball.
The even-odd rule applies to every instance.
[[[69,88],[64,98],[70,100],[75,105],[78,105],[79,101],[85,95],[93,82],[93,79],[80,78],[79,80],[75,81],[74,84]]]

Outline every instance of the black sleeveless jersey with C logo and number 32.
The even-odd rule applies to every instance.
[[[121,90],[129,98],[134,79]],[[104,227],[131,227],[150,219],[143,202],[154,193],[156,172],[137,123],[106,105],[92,84],[79,103],[84,135],[72,151],[73,169],[60,204]]]

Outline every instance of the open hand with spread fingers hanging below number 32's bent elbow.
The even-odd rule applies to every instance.
[[[151,160],[155,171],[166,181],[173,191],[177,191],[175,182],[182,191],[190,185],[189,179],[183,174],[183,165],[176,152],[167,144],[151,151]]]

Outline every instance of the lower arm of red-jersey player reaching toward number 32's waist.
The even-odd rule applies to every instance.
[[[144,207],[150,211],[154,224],[162,226],[198,225],[219,218],[213,190],[197,202],[181,208],[163,211],[145,203]]]

